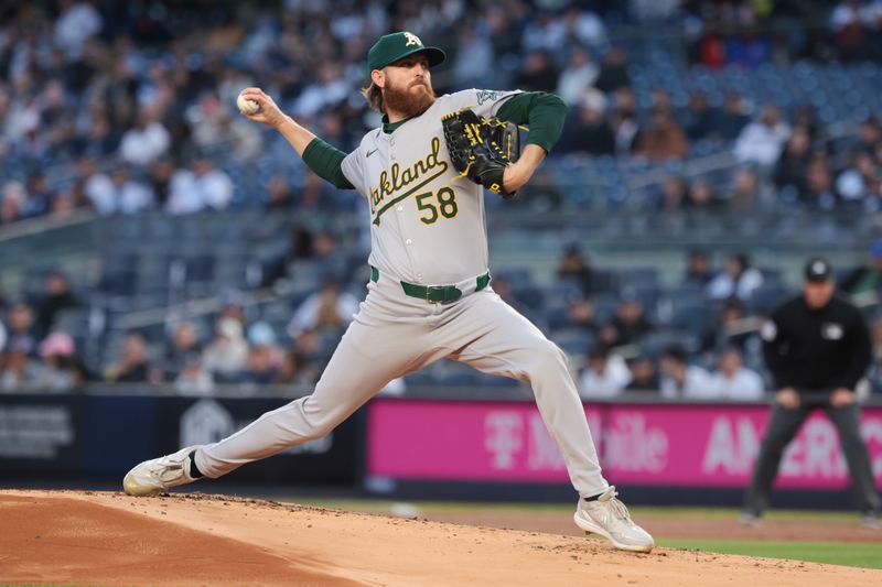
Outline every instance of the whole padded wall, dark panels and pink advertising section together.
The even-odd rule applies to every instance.
[[[287,401],[0,395],[0,486],[114,482],[135,463],[223,438]],[[584,409],[604,475],[630,502],[659,504],[739,504],[768,418],[765,404],[630,400]],[[882,486],[882,405],[864,406],[862,417]],[[378,398],[325,438],[224,480],[273,493],[333,487],[407,499],[573,496],[536,405],[514,399]],[[836,430],[817,412],[785,453],[773,503],[848,509],[848,487]]]

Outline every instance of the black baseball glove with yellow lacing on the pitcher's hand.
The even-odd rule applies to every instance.
[[[520,154],[516,124],[481,118],[471,108],[463,108],[444,116],[441,126],[450,161],[463,177],[505,199],[515,196],[503,187],[503,173]]]

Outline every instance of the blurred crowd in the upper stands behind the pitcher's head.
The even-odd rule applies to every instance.
[[[663,87],[638,95],[625,48],[634,43],[616,24],[662,19],[682,53],[710,70],[872,62],[882,52],[882,4],[677,4],[507,0],[466,11],[462,0],[335,2],[331,19],[325,2],[3,2],[0,226],[78,208],[112,215],[270,202],[355,207],[351,194],[315,198],[334,191],[313,185],[302,170],[261,177],[247,185],[258,194],[243,193],[232,175],[269,156],[268,138],[234,104],[241,88],[259,85],[332,143],[352,149],[377,123],[358,93],[364,55],[390,28],[420,31],[449,52],[448,69],[435,77],[439,91],[492,86],[561,95],[571,120],[555,155],[658,163],[688,157],[697,145],[733,150],[741,165],[723,182],[671,173],[658,184],[646,197],[663,210],[743,210],[782,198],[876,209],[878,111],[832,152],[808,105],[784,108],[738,90],[720,101],[693,88],[682,104]],[[794,19],[809,26],[782,28]],[[290,197],[276,199],[286,184]]]

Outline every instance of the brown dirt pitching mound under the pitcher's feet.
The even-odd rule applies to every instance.
[[[880,585],[882,572],[402,520],[270,501],[0,492],[0,583]]]

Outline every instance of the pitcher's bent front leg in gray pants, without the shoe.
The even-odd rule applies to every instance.
[[[567,355],[495,293],[481,292],[466,302],[456,320],[459,339],[466,346],[451,358],[487,373],[529,382],[576,490],[582,497],[605,491],[609,483],[601,474]]]

